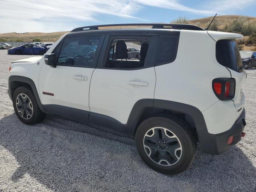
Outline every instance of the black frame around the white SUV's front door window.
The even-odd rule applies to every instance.
[[[97,46],[97,49],[96,52],[95,52],[95,63],[94,63],[94,66],[77,66],[77,65],[63,65],[63,64],[58,64],[58,58],[60,56],[60,51],[58,52],[58,55],[57,56],[57,61],[56,61],[56,66],[66,66],[66,67],[78,67],[78,68],[96,68],[97,64],[98,64],[98,60],[99,60],[99,57],[100,57],[100,52],[101,52],[101,48],[102,48],[102,45],[103,45],[103,42],[104,42],[104,38],[105,38],[105,35],[102,35],[102,34],[86,34],[86,35],[79,35],[79,36],[69,36],[69,37],[64,37],[60,42],[59,44],[54,48],[54,50],[52,51],[52,53],[58,48],[58,46],[60,45],[60,50],[62,49],[62,45],[63,45],[63,42],[65,39],[68,39],[68,38],[74,38],[74,37],[87,37],[87,36],[99,36],[100,39],[99,39],[99,44]],[[98,48],[99,47],[99,48]]]

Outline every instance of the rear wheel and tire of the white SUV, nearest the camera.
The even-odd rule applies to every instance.
[[[142,160],[153,170],[168,175],[188,169],[197,151],[191,128],[176,117],[144,120],[136,131],[135,142]]]

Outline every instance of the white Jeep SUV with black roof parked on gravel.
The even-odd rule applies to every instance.
[[[242,35],[138,25],[153,27],[76,28],[43,58],[12,62],[8,93],[18,118],[32,125],[56,114],[112,128],[134,137],[142,160],[164,174],[186,170],[198,142],[212,155],[238,143],[246,125]],[[140,60],[127,59],[130,41]]]

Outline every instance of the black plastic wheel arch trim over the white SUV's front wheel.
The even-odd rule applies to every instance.
[[[34,94],[34,96],[36,98],[36,102],[38,104],[38,107],[40,108],[40,110],[45,112],[44,107],[41,103],[40,97],[38,95],[36,85],[35,85],[34,81],[32,79],[28,78],[28,77],[17,76],[17,75],[12,75],[12,76],[9,77],[9,80],[8,80],[8,94],[9,94],[10,99],[12,100],[12,96],[13,96],[14,91],[20,86],[25,86],[25,87],[29,88],[32,91],[32,93]]]

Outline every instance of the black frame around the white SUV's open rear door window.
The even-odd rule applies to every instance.
[[[108,70],[140,70],[144,68],[150,68],[154,67],[154,62],[155,62],[155,56],[156,56],[156,45],[158,44],[158,34],[108,34],[106,35],[106,38],[104,40],[104,44],[102,46],[102,52],[100,53],[100,58],[98,60],[98,64],[96,68],[98,69],[108,69]],[[138,67],[138,68],[108,68],[103,65],[106,64],[108,58],[108,53],[111,49],[111,44],[113,40],[116,39],[137,39],[137,40],[142,40],[142,39],[148,40],[149,41],[149,47],[148,47],[148,52],[151,52],[151,54],[147,53],[146,59],[151,62],[149,62],[148,65],[143,66],[143,67]]]

